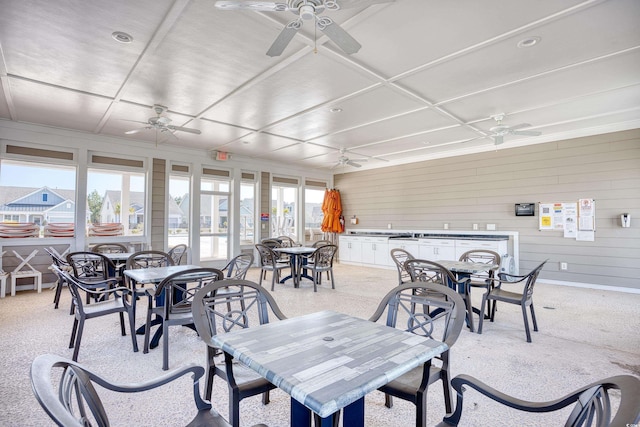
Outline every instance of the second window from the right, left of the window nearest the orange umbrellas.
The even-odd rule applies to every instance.
[[[298,181],[274,177],[271,183],[271,236],[289,236],[298,240]]]

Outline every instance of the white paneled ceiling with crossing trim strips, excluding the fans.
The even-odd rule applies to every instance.
[[[500,147],[640,127],[638,0],[396,0],[327,11],[362,44],[358,53],[343,54],[306,22],[275,58],[265,52],[291,13],[214,4],[2,0],[0,118],[145,144],[155,131],[124,132],[162,104],[172,124],[202,131],[160,134],[164,144],[319,169],[341,148],[368,159],[365,168],[492,150],[498,113],[542,132]],[[116,42],[114,31],[133,42]],[[531,37],[539,43],[517,46]]]

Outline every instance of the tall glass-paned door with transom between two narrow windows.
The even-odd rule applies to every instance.
[[[200,260],[226,261],[229,258],[229,184],[228,172],[203,170],[200,182]]]

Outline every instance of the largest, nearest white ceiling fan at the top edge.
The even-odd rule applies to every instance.
[[[378,3],[391,3],[395,0],[283,0],[242,1],[219,0],[216,7],[224,10],[248,9],[261,12],[291,12],[298,18],[289,22],[273,42],[267,55],[280,56],[289,45],[304,21],[314,20],[316,27],[327,35],[346,54],[356,53],[362,47],[360,43],[349,35],[341,26],[327,16],[320,16],[325,10],[338,10],[355,7],[366,7]]]

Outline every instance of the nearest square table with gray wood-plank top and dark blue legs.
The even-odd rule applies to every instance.
[[[320,311],[219,334],[213,343],[291,396],[291,425],[313,411],[330,426],[364,426],[364,396],[447,350],[447,345],[348,314]]]

